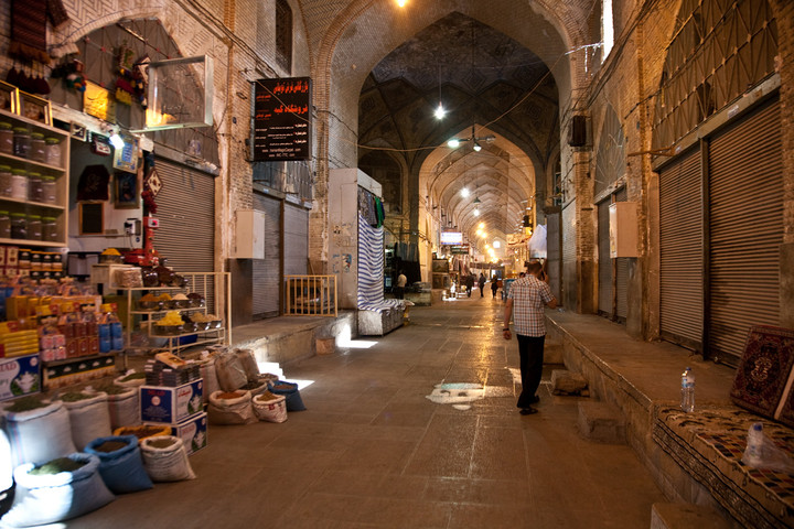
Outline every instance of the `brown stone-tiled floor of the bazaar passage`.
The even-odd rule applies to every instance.
[[[540,412],[517,413],[502,307],[476,292],[417,306],[369,348],[288,367],[313,380],[307,411],[211,425],[191,456],[196,479],[121,496],[66,527],[650,527],[663,495],[629,446],[578,435],[577,398],[541,385]],[[441,382],[483,384],[486,397],[469,410],[433,403]]]

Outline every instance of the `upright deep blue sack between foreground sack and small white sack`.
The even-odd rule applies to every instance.
[[[111,435],[95,439],[86,453],[99,457],[99,474],[114,494],[135,493],[153,487],[143,468],[143,460],[135,435]]]

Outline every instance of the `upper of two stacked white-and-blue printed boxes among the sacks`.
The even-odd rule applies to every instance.
[[[204,411],[202,391],[204,380],[170,388],[167,386],[141,386],[140,410],[141,422],[168,422],[176,424],[184,422]]]

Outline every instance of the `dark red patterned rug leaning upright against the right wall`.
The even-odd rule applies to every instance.
[[[794,331],[754,325],[737,368],[733,403],[794,427]]]

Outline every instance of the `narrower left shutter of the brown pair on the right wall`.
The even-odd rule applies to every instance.
[[[704,241],[700,150],[659,171],[659,320],[662,336],[701,350]]]

